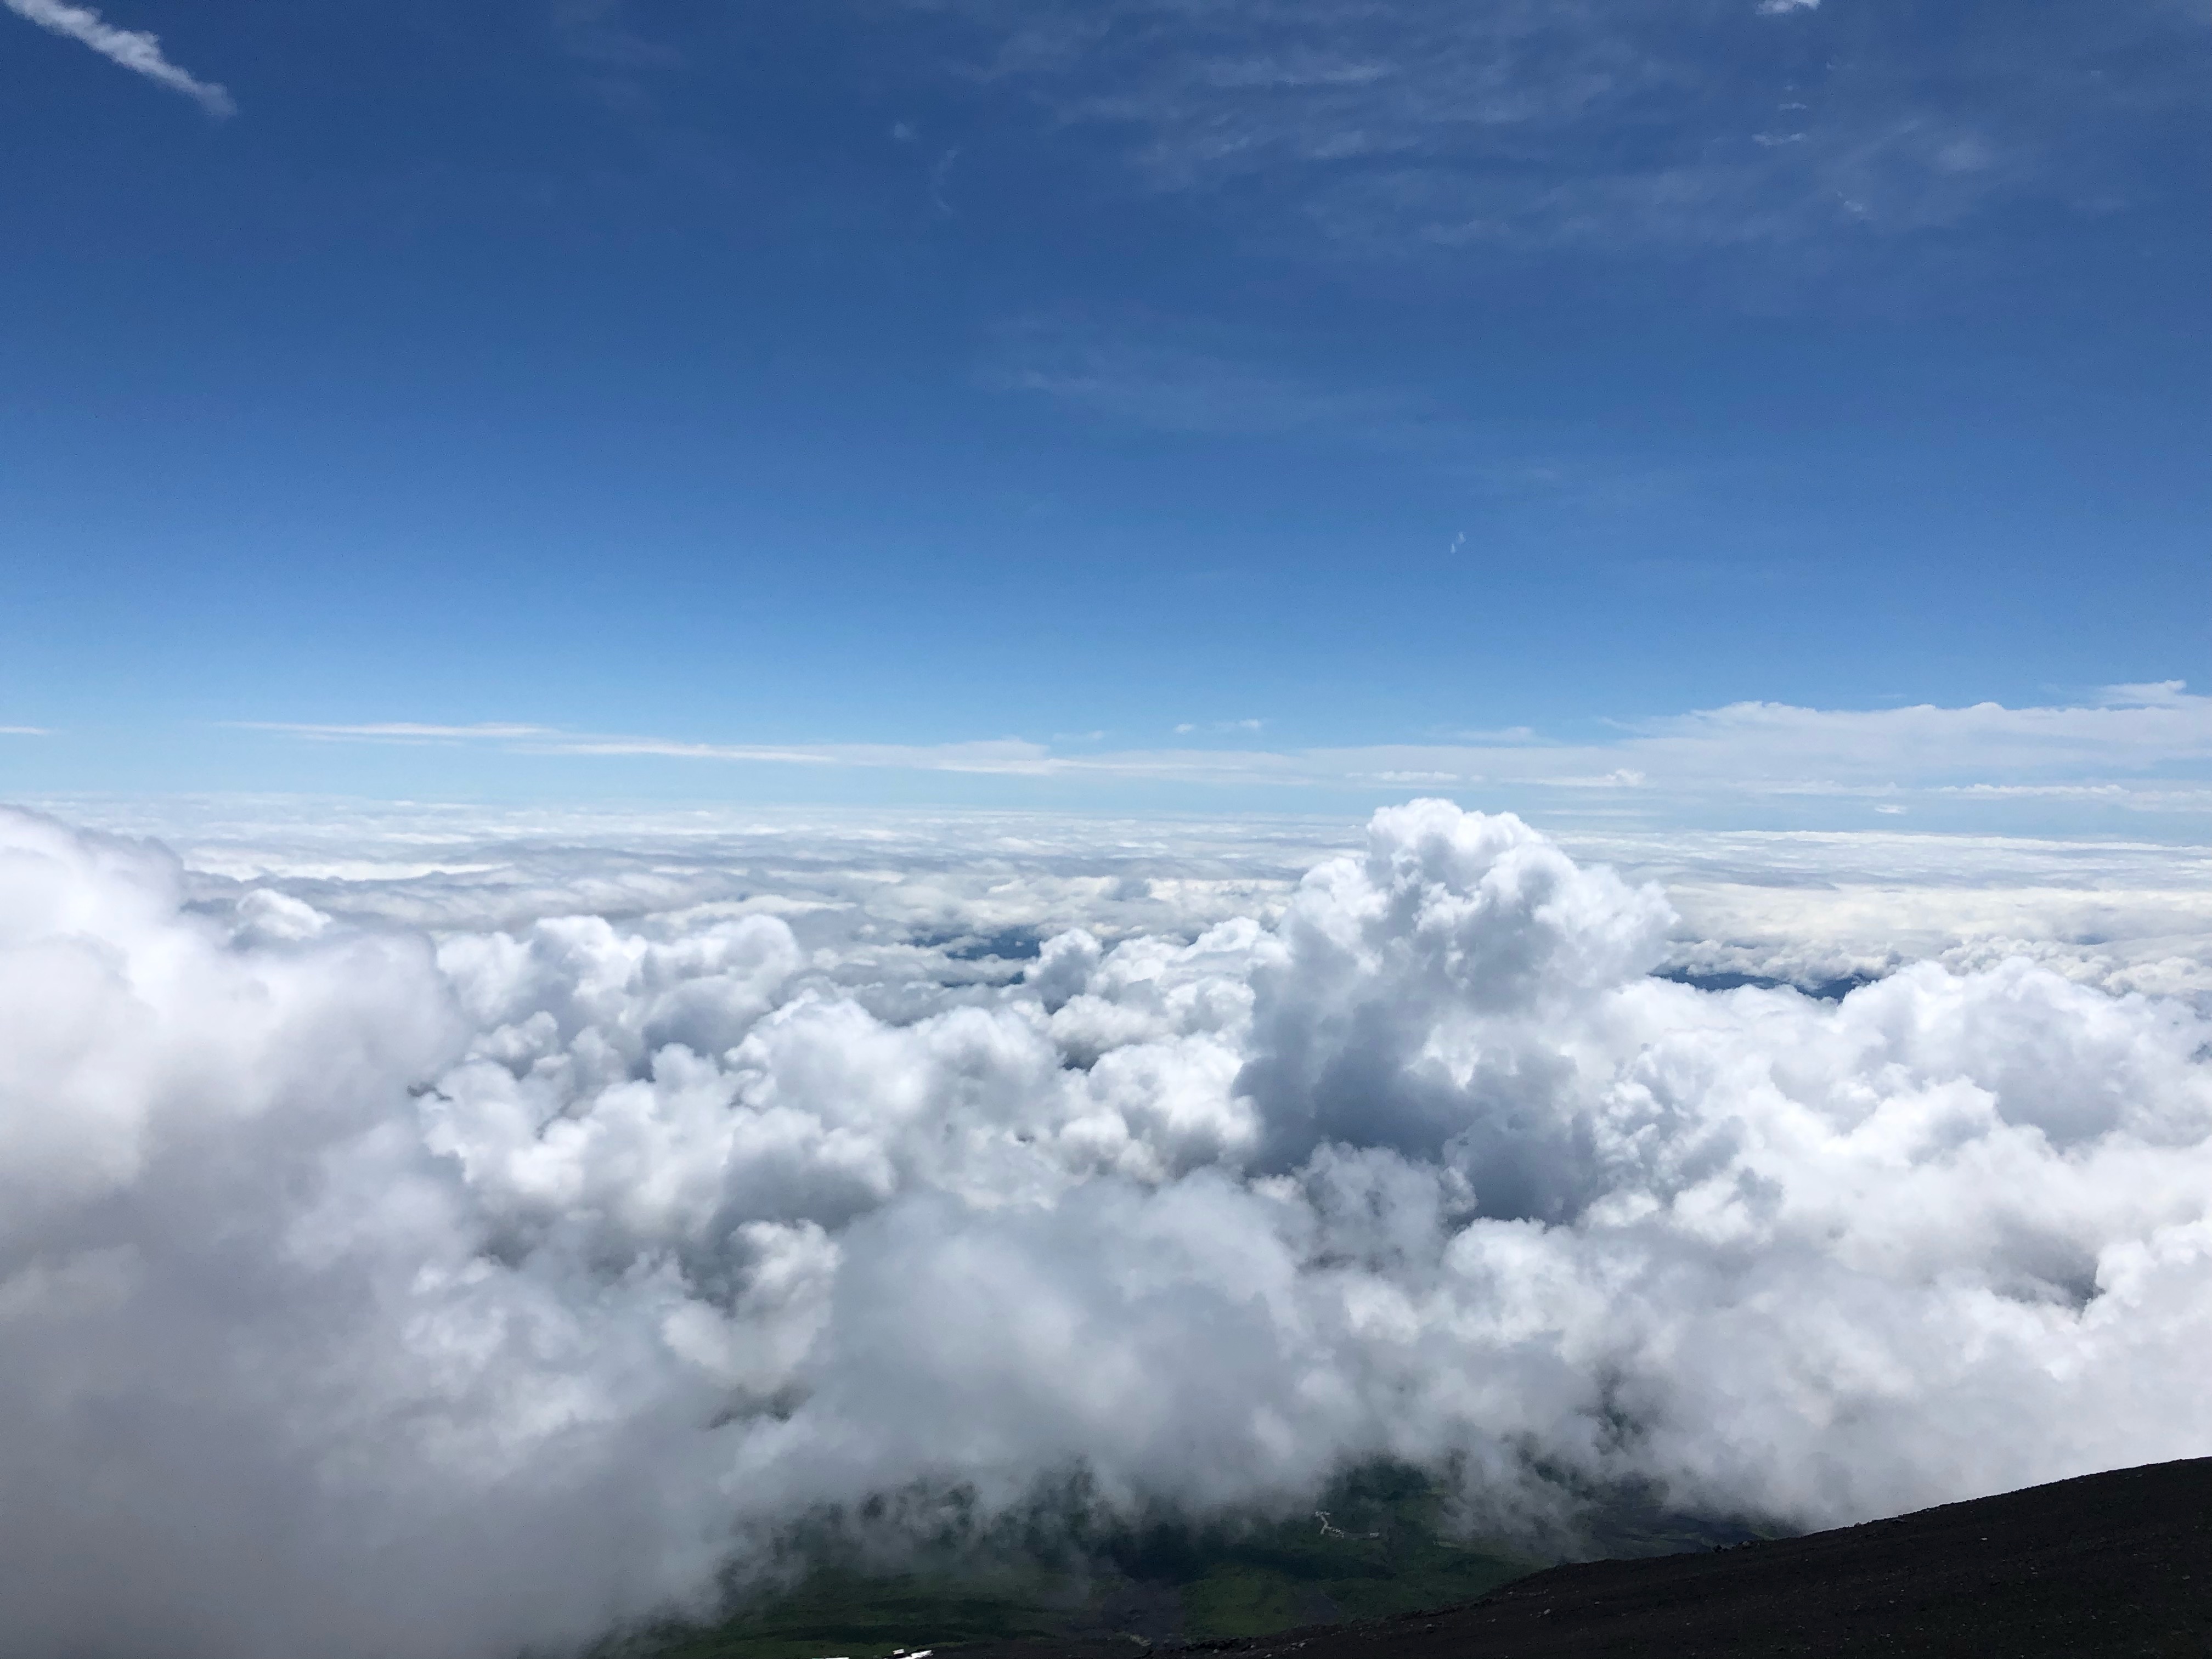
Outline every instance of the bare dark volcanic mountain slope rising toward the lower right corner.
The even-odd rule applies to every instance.
[[[1106,1644],[962,1659],[1128,1655]],[[1210,1641],[1239,1659],[1719,1655],[2212,1657],[2212,1458],[2119,1469],[1778,1544],[1555,1566],[1480,1601]]]

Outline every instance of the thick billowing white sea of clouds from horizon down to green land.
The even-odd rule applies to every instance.
[[[69,816],[0,812],[11,1655],[507,1659],[916,1482],[2212,1451],[2203,852]]]

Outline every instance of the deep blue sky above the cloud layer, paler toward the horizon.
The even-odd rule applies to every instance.
[[[4,7],[0,794],[2212,801],[2201,7]]]

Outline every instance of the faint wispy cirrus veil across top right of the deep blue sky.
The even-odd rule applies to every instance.
[[[967,29],[971,77],[1106,137],[1148,188],[1391,254],[1783,246],[2070,201],[2084,168],[2132,166],[2104,142],[2124,104],[2192,97],[2205,46],[2179,11],[2057,4],[1944,29],[1816,0],[914,4]],[[2053,71],[2121,55],[2130,100]]]

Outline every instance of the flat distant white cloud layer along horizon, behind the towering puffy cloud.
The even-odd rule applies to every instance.
[[[1588,796],[1566,794],[1566,801]],[[1338,816],[1077,818],[1044,812],[369,807],[358,801],[55,801],[159,834],[197,905],[276,887],[352,922],[518,929],[717,907],[785,918],[810,951],[942,984],[982,973],[962,940],[1088,929],[1197,936],[1274,920]],[[1573,823],[1575,814],[1555,814]],[[1854,821],[1863,823],[1858,812]],[[2132,841],[1898,832],[1562,832],[1579,858],[1661,880],[1683,925],[1670,964],[1796,978],[2026,953],[2115,991],[2212,993],[2212,854]],[[911,940],[938,945],[916,949]],[[945,949],[940,949],[945,947]],[[982,973],[989,978],[989,973]]]

